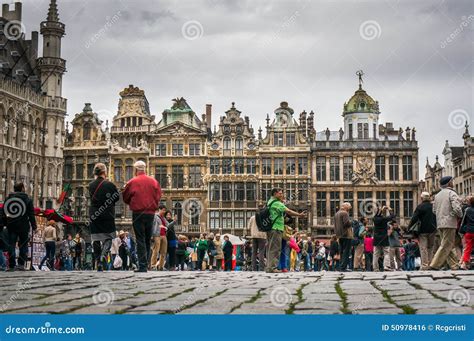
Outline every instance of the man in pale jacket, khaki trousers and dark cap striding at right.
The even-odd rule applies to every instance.
[[[462,218],[462,208],[459,196],[454,191],[454,180],[445,176],[440,180],[441,191],[436,194],[433,213],[436,215],[436,224],[441,237],[441,244],[430,264],[431,270],[440,270],[447,263],[451,270],[459,268],[455,238],[458,218]]]

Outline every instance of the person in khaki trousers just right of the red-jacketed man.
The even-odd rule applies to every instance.
[[[153,229],[151,235],[153,237],[153,247],[151,249],[150,266],[151,270],[163,271],[165,266],[166,254],[168,252],[168,220],[166,220],[166,206],[159,205],[158,212],[153,218]],[[159,259],[158,259],[159,256]]]

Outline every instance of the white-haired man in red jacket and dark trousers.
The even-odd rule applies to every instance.
[[[133,212],[133,231],[137,239],[138,270],[146,272],[150,258],[150,240],[153,230],[153,218],[160,205],[161,187],[158,181],[146,175],[146,164],[137,161],[133,165],[135,177],[123,190],[123,201]]]

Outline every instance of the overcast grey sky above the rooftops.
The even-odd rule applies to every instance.
[[[29,37],[49,0],[23,3]],[[199,115],[211,103],[214,125],[235,101],[257,131],[287,101],[295,116],[314,110],[316,130],[338,130],[362,69],[381,123],[417,128],[424,167],[474,122],[473,4],[58,0],[68,120],[85,102],[110,120],[119,92],[134,84],[157,119],[183,96]]]

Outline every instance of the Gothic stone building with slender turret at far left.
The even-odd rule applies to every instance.
[[[31,32],[30,39],[23,32],[21,3],[13,9],[3,5],[0,25],[0,202],[21,181],[35,206],[52,208],[62,190],[64,162],[65,25],[51,0],[40,24],[41,57],[38,32]]]

